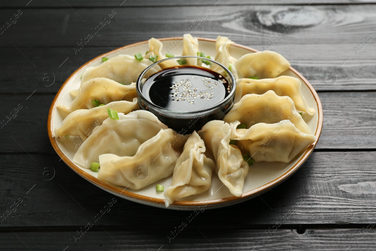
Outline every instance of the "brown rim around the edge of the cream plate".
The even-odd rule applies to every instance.
[[[196,38],[199,41],[209,41],[209,42],[214,42],[214,43],[216,41],[215,39],[212,39],[212,38],[202,38],[202,37],[196,37]],[[177,40],[177,39],[180,39],[180,37],[158,38],[159,41]],[[51,142],[53,148],[55,149],[56,153],[59,155],[59,157],[61,157],[61,160],[63,160],[65,162],[65,164],[67,164],[74,172],[76,172],[78,175],[80,175],[85,180],[87,180],[87,181],[89,181],[89,182],[95,184],[96,186],[99,186],[99,187],[101,187],[105,190],[109,190],[109,191],[111,191],[111,193],[116,194],[118,196],[127,196],[127,197],[130,197],[132,199],[141,200],[141,201],[144,201],[144,202],[149,202],[149,203],[152,202],[154,204],[164,205],[165,199],[158,199],[158,198],[153,198],[153,197],[144,196],[144,195],[138,195],[138,194],[133,193],[133,192],[125,191],[125,189],[121,189],[120,187],[116,187],[116,186],[113,186],[113,185],[106,183],[104,181],[98,180],[96,177],[90,175],[89,173],[87,173],[84,170],[77,167],[72,161],[70,161],[68,159],[68,157],[65,156],[65,154],[59,148],[59,146],[58,146],[58,144],[57,144],[57,142],[56,142],[56,140],[53,136],[53,128],[52,128],[52,113],[56,109],[56,105],[57,105],[56,100],[58,99],[62,89],[65,87],[67,82],[71,78],[73,78],[75,75],[77,75],[78,71],[80,71],[83,67],[85,67],[86,65],[88,65],[92,61],[96,61],[97,59],[103,58],[103,57],[108,56],[112,53],[116,53],[120,50],[124,50],[124,49],[130,48],[130,47],[133,47],[133,46],[146,44],[146,43],[149,43],[149,40],[145,40],[145,41],[141,41],[141,42],[137,42],[137,43],[133,43],[133,44],[128,44],[126,46],[119,47],[115,50],[111,50],[110,52],[103,53],[102,55],[99,55],[99,56],[89,60],[85,64],[81,65],[77,70],[75,70],[65,80],[65,82],[61,85],[60,89],[56,93],[55,98],[52,101],[52,104],[51,104],[50,110],[49,110],[49,114],[48,114],[47,131],[48,131],[48,135],[49,135],[49,138],[50,138],[50,142]],[[241,44],[237,44],[237,43],[233,43],[233,44],[231,44],[231,46],[240,47],[242,49],[249,50],[250,52],[259,52],[256,49],[253,49],[251,47],[244,46],[244,45],[241,45]],[[314,143],[312,143],[307,148],[307,150],[305,151],[303,156],[287,172],[283,173],[282,175],[275,178],[274,180],[272,180],[272,181],[270,181],[270,182],[268,182],[268,183],[266,183],[266,184],[264,184],[260,187],[257,187],[256,189],[250,190],[248,192],[244,192],[240,197],[230,196],[230,197],[227,197],[227,198],[210,200],[209,202],[208,201],[174,201],[174,203],[172,205],[198,207],[198,206],[202,205],[203,203],[208,204],[208,205],[216,205],[216,204],[225,204],[226,202],[228,203],[228,202],[235,202],[235,201],[243,201],[243,199],[245,199],[245,198],[250,199],[250,198],[253,198],[255,196],[258,196],[261,193],[267,192],[268,190],[272,189],[273,187],[276,187],[277,185],[279,185],[283,181],[287,180],[287,178],[289,178],[291,175],[293,175],[300,168],[300,166],[302,166],[302,164],[308,159],[309,155],[312,154],[313,149],[315,148],[317,141],[320,138],[322,125],[323,125],[323,107],[321,105],[321,101],[320,101],[320,98],[318,97],[317,91],[315,91],[315,89],[308,82],[308,80],[306,78],[304,78],[303,75],[300,74],[293,67],[290,66],[289,70],[291,70],[293,73],[295,73],[297,76],[299,76],[299,78],[302,79],[303,82],[305,82],[305,84],[308,86],[309,90],[311,91],[312,96],[314,97],[315,102],[317,103],[317,107],[318,107],[317,129],[314,133],[314,135],[316,136],[316,141]]]

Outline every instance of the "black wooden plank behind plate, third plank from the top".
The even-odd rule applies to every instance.
[[[142,40],[147,38],[144,37]],[[245,45],[255,49],[261,47],[260,44],[249,42]],[[291,50],[291,44],[281,41],[272,49],[284,55],[291,65],[311,82],[315,90],[376,90],[376,73],[373,70],[376,67],[376,50],[372,47],[365,47],[364,51],[356,55],[355,50],[352,51],[353,45],[342,43],[323,47],[321,44],[302,44],[299,45],[299,49],[302,50],[300,51],[296,45],[293,45],[295,49]],[[115,47],[112,48],[115,49]],[[3,69],[0,73],[0,83],[2,83],[0,88],[3,94],[30,95],[33,91],[56,93],[65,79],[77,68],[90,59],[111,50],[108,46],[84,47],[77,55],[74,55],[73,47],[19,49],[23,50],[36,67],[16,48],[3,49],[4,58],[8,58],[8,61],[0,62],[0,67]],[[320,54],[317,53],[318,51]],[[351,59],[346,62],[350,57]],[[334,85],[325,82],[325,74],[329,71],[335,73],[333,78],[337,81]]]

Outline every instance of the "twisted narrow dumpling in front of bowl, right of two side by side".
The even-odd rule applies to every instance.
[[[205,141],[216,162],[215,172],[230,193],[240,197],[243,194],[244,179],[249,166],[240,150],[230,145],[231,126],[222,120],[212,120],[197,132]]]

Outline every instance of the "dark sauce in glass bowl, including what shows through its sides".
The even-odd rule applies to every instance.
[[[198,131],[210,120],[222,120],[235,100],[224,76],[199,66],[167,68],[139,82],[140,108],[182,134]]]

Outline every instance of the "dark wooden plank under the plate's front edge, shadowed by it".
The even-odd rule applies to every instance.
[[[0,155],[3,213],[22,199],[0,227],[85,226],[111,202],[113,195],[83,180],[59,159],[56,155]],[[276,189],[238,205],[204,210],[190,226],[248,229],[255,225],[375,222],[375,161],[374,152],[314,152]],[[159,231],[179,226],[192,213],[116,200],[95,226]]]

